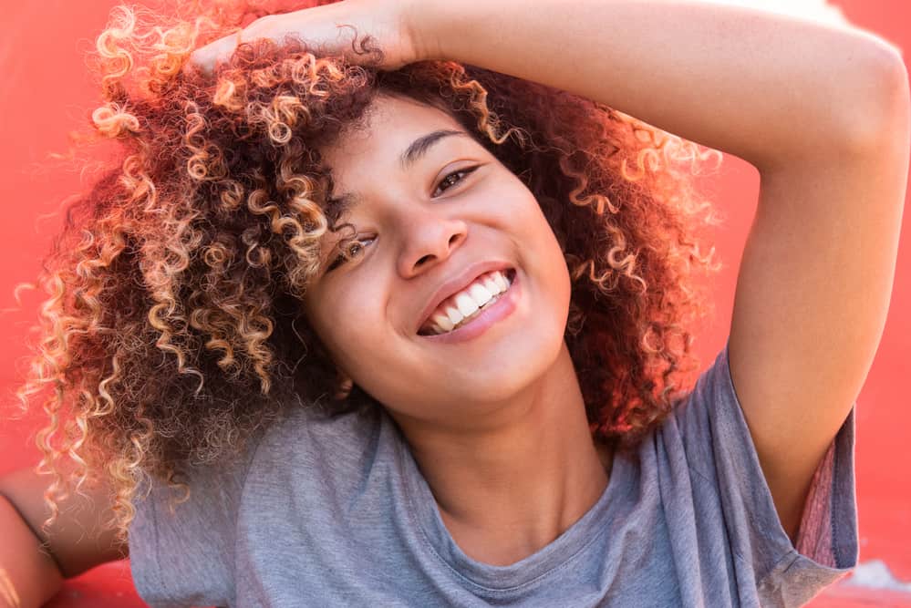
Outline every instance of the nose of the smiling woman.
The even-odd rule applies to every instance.
[[[399,273],[405,278],[444,262],[468,235],[465,222],[445,217],[438,210],[411,211],[400,225],[404,244],[399,255]]]

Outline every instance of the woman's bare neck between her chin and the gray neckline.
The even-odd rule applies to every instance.
[[[494,427],[458,430],[396,418],[460,549],[492,565],[540,550],[582,518],[607,486],[610,454],[595,446],[564,345]]]

